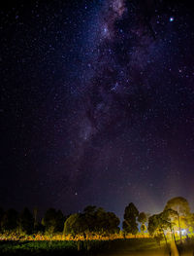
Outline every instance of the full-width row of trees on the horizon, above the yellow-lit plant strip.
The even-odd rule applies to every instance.
[[[109,237],[113,234],[137,235],[148,233],[160,241],[167,236],[182,238],[184,233],[194,232],[194,213],[190,211],[186,199],[178,197],[167,201],[164,210],[158,214],[139,212],[133,202],[124,210],[122,230],[119,228],[120,220],[113,213],[102,207],[86,206],[81,213],[65,216],[61,210],[49,208],[41,221],[37,219],[38,209],[33,213],[24,208],[20,213],[15,209],[4,211],[0,208],[0,233],[17,234],[63,234],[72,238],[82,236],[101,235]]]

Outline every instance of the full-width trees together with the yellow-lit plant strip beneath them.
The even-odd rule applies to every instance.
[[[20,213],[15,209],[4,211],[0,208],[0,252],[6,251],[11,245],[24,250],[34,247],[37,250],[46,247],[53,249],[58,246],[58,249],[70,252],[75,248],[90,251],[94,247],[101,248],[104,244],[109,244],[110,248],[113,246],[112,241],[120,240],[125,244],[127,238],[133,238],[134,242],[139,240],[142,244],[142,239],[146,242],[151,240],[155,246],[166,244],[166,248],[169,248],[170,240],[177,244],[179,240],[180,250],[185,249],[184,244],[188,240],[194,244],[191,242],[194,213],[190,211],[188,201],[183,198],[167,201],[162,212],[149,216],[145,212],[139,213],[134,203],[130,202],[125,207],[123,217],[120,230],[120,221],[113,212],[94,205],[88,205],[82,212],[69,216],[65,216],[60,210],[49,208],[42,219],[38,217],[37,208],[33,214],[28,208]]]

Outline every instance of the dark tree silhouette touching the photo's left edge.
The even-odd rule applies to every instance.
[[[5,231],[16,231],[17,228],[17,221],[18,221],[18,213],[15,209],[9,209],[7,210],[1,221],[1,228]]]

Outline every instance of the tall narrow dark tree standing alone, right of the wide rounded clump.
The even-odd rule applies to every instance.
[[[130,202],[126,206],[124,211],[124,221],[122,228],[124,233],[136,235],[138,233],[138,223],[136,222],[137,217],[139,216],[139,211],[134,205],[133,202]]]

